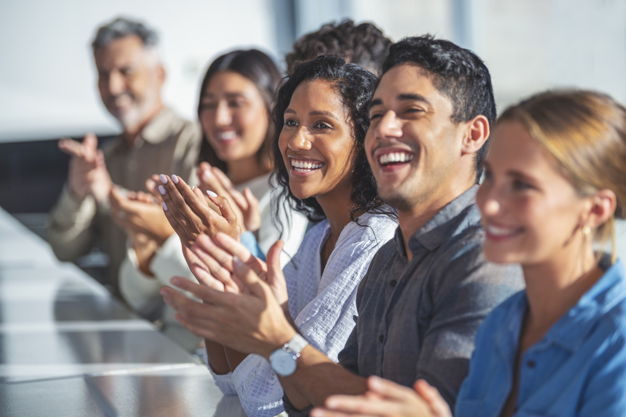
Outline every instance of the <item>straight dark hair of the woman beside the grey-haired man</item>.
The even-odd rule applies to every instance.
[[[232,71],[233,73],[240,74],[249,79],[257,86],[259,93],[265,101],[265,108],[267,108],[267,116],[269,118],[270,111],[272,111],[272,105],[274,104],[274,94],[280,83],[280,72],[272,61],[272,58],[259,51],[259,49],[249,49],[247,51],[232,51],[227,54],[219,56],[208,67],[207,74],[205,74],[202,80],[202,87],[200,88],[200,100],[198,103],[198,119],[202,112],[202,95],[208,86],[211,77],[215,73],[222,71]],[[264,166],[269,171],[272,169],[271,159],[271,147],[272,138],[274,133],[271,129],[271,122],[269,123],[270,129],[267,129],[267,134],[263,141],[263,144],[257,152],[257,159],[261,166]],[[212,166],[216,166],[222,171],[226,172],[226,163],[217,158],[217,154],[207,141],[207,136],[202,132],[202,145],[200,146],[200,154],[198,155],[198,163],[207,161]]]

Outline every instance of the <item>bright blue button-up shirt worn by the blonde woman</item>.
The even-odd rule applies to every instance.
[[[513,415],[626,416],[626,277],[600,261],[602,278],[523,354]],[[456,401],[455,417],[497,417],[513,384],[525,291],[485,319]]]

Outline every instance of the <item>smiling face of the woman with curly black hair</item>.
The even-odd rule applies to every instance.
[[[341,96],[327,81],[314,79],[297,86],[279,137],[294,196],[349,198],[356,145],[349,119]]]

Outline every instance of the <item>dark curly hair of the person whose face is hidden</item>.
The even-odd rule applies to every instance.
[[[327,23],[295,41],[294,50],[285,56],[287,74],[296,64],[321,55],[339,55],[349,63],[379,74],[390,45],[391,41],[385,38],[381,29],[371,23],[355,26],[350,19]]]

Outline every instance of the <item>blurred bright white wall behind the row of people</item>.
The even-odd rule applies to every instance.
[[[557,86],[626,101],[626,0],[294,1],[297,36],[349,17],[374,22],[393,40],[433,33],[475,50],[490,68],[499,110]],[[101,23],[120,14],[158,29],[165,100],[194,118],[210,59],[235,47],[275,54],[275,26],[283,22],[274,21],[274,8],[283,3],[0,0],[0,141],[117,129],[96,91],[89,44]],[[461,6],[463,31],[454,20]]]

